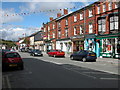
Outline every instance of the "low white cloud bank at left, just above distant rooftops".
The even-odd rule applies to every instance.
[[[13,40],[16,41],[21,37],[24,37],[23,34],[26,34],[26,36],[31,35],[34,32],[37,32],[38,30],[28,30],[24,28],[9,28],[9,29],[0,29],[0,38],[5,40]]]

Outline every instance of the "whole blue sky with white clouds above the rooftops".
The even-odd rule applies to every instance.
[[[58,12],[63,14],[65,8],[68,9],[68,13],[71,13],[95,2],[95,0],[84,0],[82,2],[67,2],[67,0],[60,0],[62,2],[58,2],[58,0],[57,2],[54,0],[38,1],[12,0],[10,2],[10,0],[4,0],[4,2],[1,2],[0,38],[16,41],[21,37],[39,31],[43,23],[49,22],[50,17],[56,18]]]

